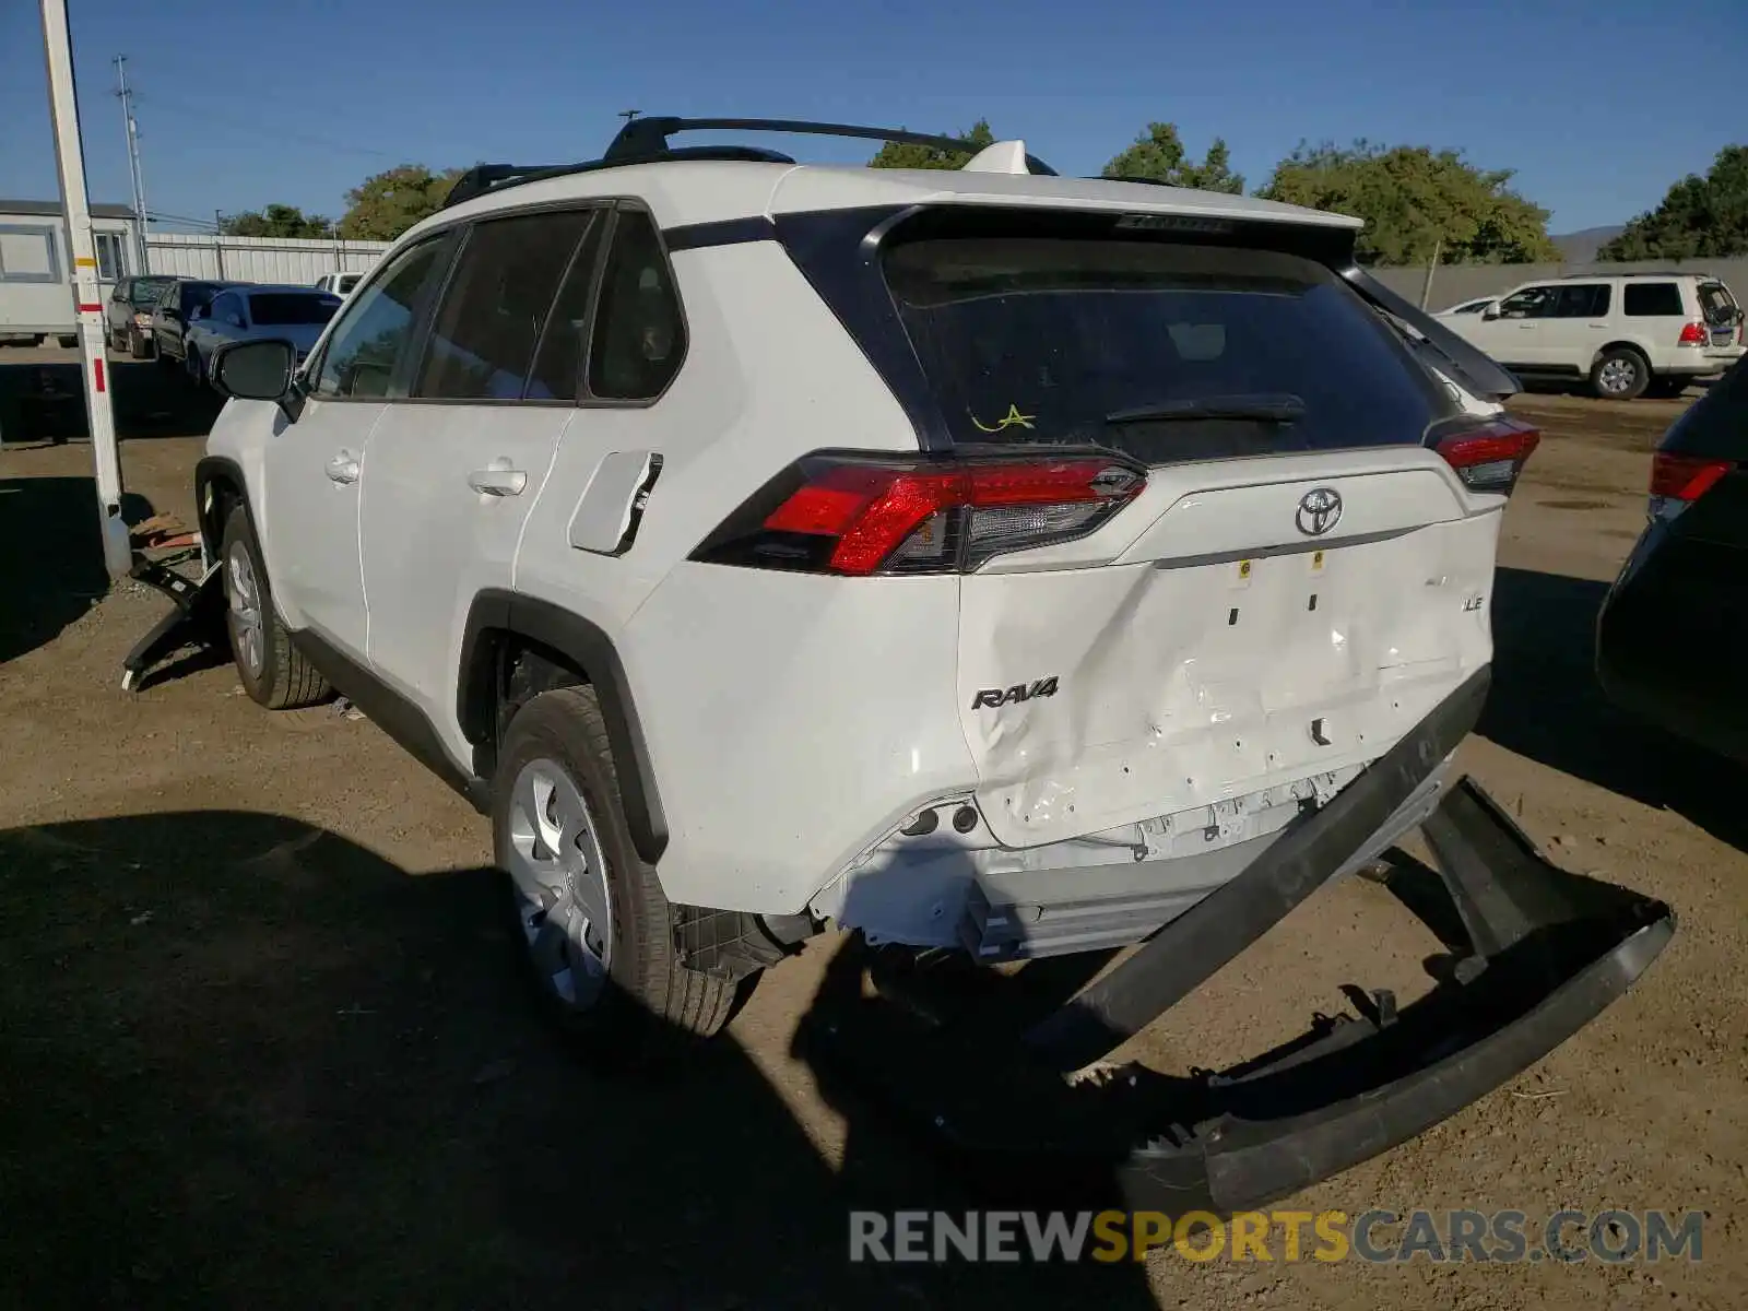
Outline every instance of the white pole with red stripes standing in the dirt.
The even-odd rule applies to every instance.
[[[115,413],[103,376],[103,301],[98,292],[98,252],[91,236],[91,199],[86,196],[86,152],[79,140],[79,96],[73,89],[73,37],[66,26],[66,0],[42,0],[42,45],[49,59],[49,115],[54,124],[54,163],[66,206],[66,241],[73,255],[73,304],[84,351],[86,414],[91,420],[91,458],[98,481],[98,531],[103,563],[112,579],[133,568],[128,524],[121,517],[121,453],[115,449]]]

